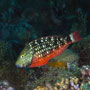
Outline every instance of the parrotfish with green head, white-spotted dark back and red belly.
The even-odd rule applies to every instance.
[[[70,44],[81,39],[78,31],[75,31],[67,37],[46,36],[33,40],[20,53],[16,66],[21,68],[43,66],[50,59],[62,54]]]

